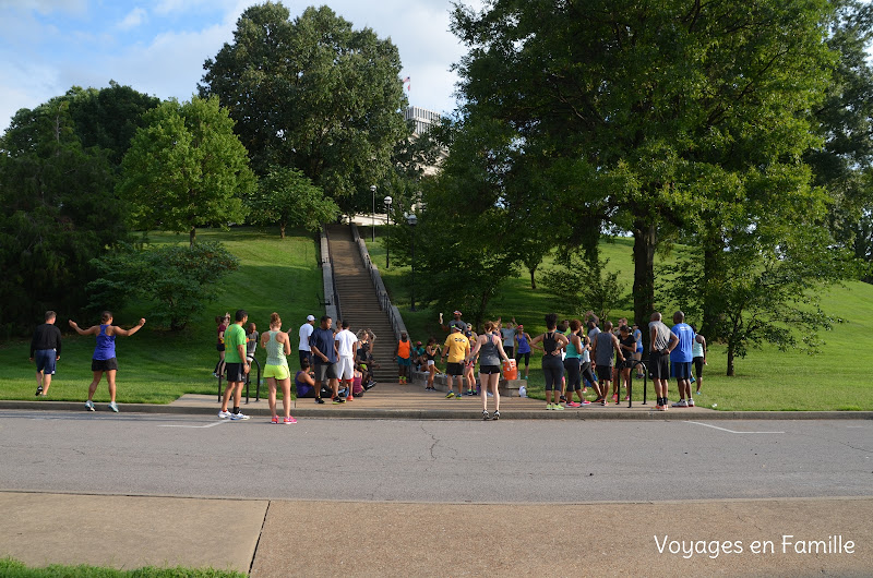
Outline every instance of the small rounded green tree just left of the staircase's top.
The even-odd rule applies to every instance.
[[[287,227],[315,232],[339,214],[336,203],[326,198],[302,172],[282,167],[274,167],[259,181],[256,192],[247,198],[247,204],[250,221],[278,225],[283,239]]]

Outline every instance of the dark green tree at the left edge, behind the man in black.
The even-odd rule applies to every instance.
[[[128,234],[113,185],[105,152],[82,147],[68,99],[16,112],[0,139],[0,334],[87,302],[89,261]]]

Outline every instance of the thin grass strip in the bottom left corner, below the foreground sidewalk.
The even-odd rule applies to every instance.
[[[45,568],[29,568],[14,558],[0,558],[0,576],[5,578],[242,578],[238,571],[212,568],[155,568],[117,570],[98,566],[62,566],[52,564]]]

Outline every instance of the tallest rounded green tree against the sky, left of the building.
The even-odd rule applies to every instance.
[[[216,95],[259,174],[299,169],[345,212],[391,169],[407,135],[400,59],[388,39],[356,31],[330,8],[290,20],[282,3],[247,9],[234,41],[206,60],[202,96]]]

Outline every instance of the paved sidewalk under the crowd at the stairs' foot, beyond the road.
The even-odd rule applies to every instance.
[[[261,386],[260,400],[255,400],[255,389],[251,388],[250,402],[242,398],[242,412],[253,417],[270,416],[266,401],[266,386]],[[704,402],[705,397],[698,398]],[[108,411],[106,404],[96,404],[97,411]],[[169,413],[169,414],[211,414],[220,409],[217,395],[188,394],[169,405],[120,404],[124,413]],[[591,404],[582,408],[566,408],[563,411],[547,411],[546,402],[539,399],[501,396],[501,420],[823,420],[823,419],[873,419],[873,411],[717,411],[697,406],[695,408],[670,408],[655,411],[654,401],[643,405],[634,401],[629,408],[626,401],[610,402],[606,407]],[[493,399],[488,400],[493,412]],[[83,411],[83,401],[50,400],[0,400],[0,409]],[[282,413],[282,402],[278,404]],[[313,399],[297,399],[291,409],[296,418],[344,418],[344,419],[391,419],[391,420],[476,420],[481,418],[482,400],[478,396],[464,396],[461,399],[445,399],[441,392],[426,392],[421,385],[399,385],[380,383],[354,401],[333,405],[330,400],[318,405]]]

